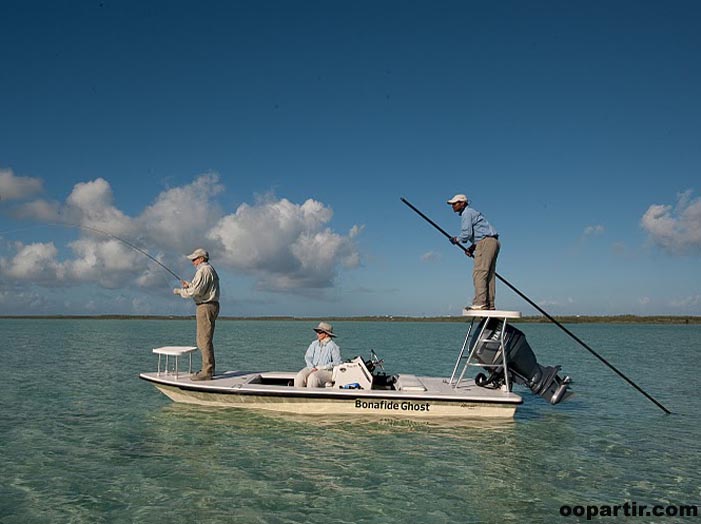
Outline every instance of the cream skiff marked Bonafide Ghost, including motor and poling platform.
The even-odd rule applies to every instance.
[[[158,369],[142,373],[159,391],[175,402],[258,409],[304,415],[392,417],[428,421],[475,418],[512,418],[523,403],[512,391],[524,384],[552,404],[569,394],[569,378],[561,379],[559,367],[543,367],[523,333],[507,324],[520,317],[514,311],[466,311],[471,317],[467,335],[450,377],[413,374],[388,375],[374,353],[336,366],[332,381],[323,388],[296,388],[296,371],[227,371],[210,381],[192,381],[180,369],[191,346],[156,348]],[[165,366],[162,360],[165,357]],[[465,377],[469,366],[483,371],[475,379]]]

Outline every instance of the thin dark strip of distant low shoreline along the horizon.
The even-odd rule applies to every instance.
[[[564,324],[701,324],[701,316],[684,315],[565,315],[552,317]],[[33,320],[193,320],[194,315],[0,315],[0,319],[33,319]],[[220,321],[299,321],[316,322],[328,320],[332,322],[466,322],[468,317],[408,317],[408,316],[357,316],[357,317],[294,317],[294,316],[261,316],[261,317],[219,317]],[[510,322],[547,323],[544,316],[526,316]]]

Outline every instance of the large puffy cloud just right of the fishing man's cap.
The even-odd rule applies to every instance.
[[[222,217],[208,238],[219,245],[224,264],[255,275],[264,289],[324,288],[339,266],[360,263],[353,239],[362,228],[340,235],[327,226],[332,216],[331,208],[313,199],[299,205],[267,197]]]

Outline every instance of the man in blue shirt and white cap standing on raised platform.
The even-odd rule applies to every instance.
[[[448,200],[448,204],[461,219],[460,235],[450,241],[453,244],[470,242],[466,254],[475,259],[472,269],[475,298],[467,309],[494,309],[497,256],[501,248],[499,234],[482,213],[469,206],[465,195],[455,195]]]

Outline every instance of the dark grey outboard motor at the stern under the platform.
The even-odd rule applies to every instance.
[[[489,376],[480,373],[475,377],[475,383],[478,386],[499,388],[506,383],[500,352],[503,326],[503,322],[498,318],[485,318],[479,323],[472,336],[470,347],[474,347],[477,337],[482,335],[473,358],[489,366],[484,368],[489,372]],[[483,327],[484,331],[482,331]],[[504,344],[510,382],[527,386],[533,393],[540,395],[551,404],[557,404],[571,395],[567,389],[571,382],[570,377],[561,378],[558,375],[560,366],[546,367],[538,364],[522,331],[507,324]]]

